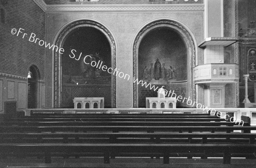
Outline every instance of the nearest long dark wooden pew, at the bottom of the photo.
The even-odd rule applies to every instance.
[[[43,153],[45,162],[51,162],[52,153],[102,153],[104,163],[110,163],[110,155],[118,153],[131,153],[131,154],[161,154],[163,163],[169,163],[171,153],[189,153],[197,154],[204,153],[207,157],[212,154],[223,154],[224,164],[230,164],[231,156],[236,157],[239,155],[234,154],[253,154],[256,152],[256,144],[122,144],[122,143],[1,143],[0,156],[5,157],[15,153]]]

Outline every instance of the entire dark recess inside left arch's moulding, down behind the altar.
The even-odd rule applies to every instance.
[[[63,48],[68,52],[61,58],[61,106],[73,108],[74,97],[104,97],[105,107],[110,107],[111,74],[90,65],[100,61],[111,67],[111,47],[106,36],[96,28],[77,28],[66,37]]]

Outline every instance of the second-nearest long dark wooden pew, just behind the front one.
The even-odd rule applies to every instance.
[[[58,132],[0,133],[0,143],[255,143],[252,133]]]

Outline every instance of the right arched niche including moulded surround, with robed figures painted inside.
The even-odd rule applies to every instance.
[[[175,43],[175,38],[178,38],[177,43]],[[154,39],[156,39],[155,42]],[[170,48],[172,45],[176,45],[176,50]],[[182,48],[184,48],[184,50],[182,50]],[[175,54],[179,54],[179,56]],[[134,40],[133,76],[134,78],[148,81],[156,87],[166,86],[164,89],[168,91],[172,89],[175,90],[177,95],[182,95],[183,97],[190,96],[190,98],[195,100],[195,84],[192,73],[192,68],[195,67],[195,55],[196,48],[194,39],[181,23],[166,19],[150,22],[140,29]],[[151,66],[154,67],[157,58],[160,60],[160,63],[165,63],[167,70],[171,69],[169,66],[172,66],[173,69],[175,68],[176,73],[178,73],[175,78],[176,81],[152,82],[152,80],[145,78],[145,75],[143,76],[145,68],[148,68],[149,71]],[[185,60],[182,61],[182,59]],[[161,60],[163,61],[161,62]],[[181,66],[182,64],[183,66]],[[151,76],[151,78],[154,78],[154,76]],[[137,83],[134,83],[134,107],[145,106],[145,97],[157,97],[157,90],[153,91],[148,88],[140,90],[141,88],[142,87],[138,86]]]

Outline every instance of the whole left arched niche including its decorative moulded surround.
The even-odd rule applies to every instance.
[[[61,31],[56,45],[65,52],[53,53],[54,107],[72,108],[74,97],[104,97],[105,108],[115,107],[116,77],[84,63],[90,55],[86,62],[100,61],[116,68],[116,45],[108,29],[98,22],[79,20]]]

